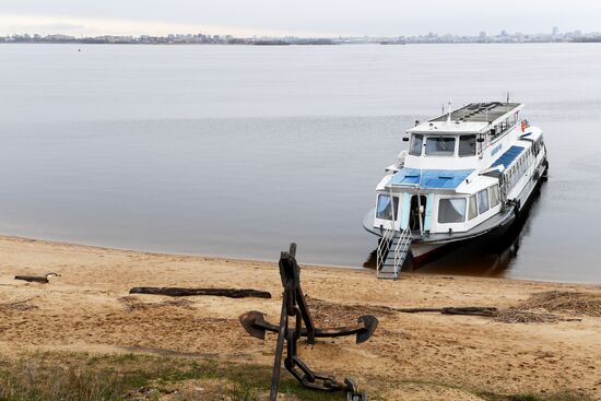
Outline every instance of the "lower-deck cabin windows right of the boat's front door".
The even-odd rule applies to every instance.
[[[463,223],[478,217],[500,202],[498,185],[488,187],[470,198],[445,198],[438,203],[438,223]],[[468,207],[466,209],[466,205]]]

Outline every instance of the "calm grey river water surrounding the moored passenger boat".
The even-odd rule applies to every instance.
[[[510,92],[550,179],[506,240],[423,271],[599,283],[599,71],[596,44],[1,45],[0,233],[361,267],[403,130]]]

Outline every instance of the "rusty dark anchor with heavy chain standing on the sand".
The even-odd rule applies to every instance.
[[[266,315],[257,310],[247,311],[239,318],[245,330],[257,339],[264,340],[267,331],[278,333],[269,399],[270,401],[278,400],[280,368],[285,342],[284,366],[303,386],[322,391],[344,391],[349,401],[367,401],[367,393],[360,391],[354,379],[345,378],[340,381],[334,376],[313,371],[297,355],[297,341],[304,337],[307,343],[313,345],[317,338],[355,335],[356,343],[361,344],[372,337],[378,326],[378,319],[372,315],[364,315],[357,319],[356,325],[327,329],[316,328],[300,288],[300,271],[295,256],[296,244],[291,244],[290,250],[282,251],[280,255],[280,276],[284,287],[280,325],[268,322],[264,318]],[[290,319],[293,319],[293,327],[288,326]]]

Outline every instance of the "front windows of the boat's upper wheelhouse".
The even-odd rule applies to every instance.
[[[456,137],[426,137],[424,144],[424,135],[414,133],[411,137],[409,145],[409,154],[412,156],[455,156],[456,154]],[[460,157],[475,156],[476,145],[475,135],[460,135],[457,153]]]

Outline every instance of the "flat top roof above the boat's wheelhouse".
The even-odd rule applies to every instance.
[[[479,133],[485,132],[497,122],[523,108],[521,103],[470,103],[461,108],[444,114],[427,122],[422,122],[408,132],[415,133]],[[450,118],[449,118],[450,117]]]

